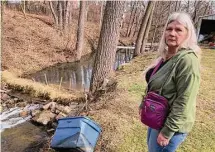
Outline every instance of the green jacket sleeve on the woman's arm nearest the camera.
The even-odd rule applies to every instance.
[[[176,65],[177,66],[177,65]],[[196,106],[196,96],[200,83],[198,59],[186,57],[176,67],[175,84],[177,97],[170,107],[170,113],[161,133],[170,139],[184,125],[190,116],[190,110]],[[190,119],[190,118],[189,118]],[[194,119],[194,118],[193,118]]]

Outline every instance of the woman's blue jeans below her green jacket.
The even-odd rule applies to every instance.
[[[174,152],[187,136],[187,133],[175,133],[167,146],[160,146],[157,143],[159,132],[158,130],[148,128],[147,145],[149,152]]]

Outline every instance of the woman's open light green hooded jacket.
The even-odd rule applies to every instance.
[[[170,139],[175,132],[189,132],[195,121],[200,63],[192,50],[178,51],[151,77],[148,90],[159,91],[163,83],[161,95],[167,98],[170,113],[161,133]]]

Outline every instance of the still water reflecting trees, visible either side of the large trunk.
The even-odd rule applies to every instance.
[[[133,49],[119,49],[116,53],[116,70],[120,65],[133,58]],[[44,84],[55,84],[68,89],[88,90],[92,75],[94,56],[85,56],[80,62],[63,63],[41,70],[30,77]]]

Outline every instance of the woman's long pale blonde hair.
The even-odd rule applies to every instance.
[[[180,48],[186,48],[191,49],[195,52],[195,54],[198,56],[199,60],[201,58],[201,49],[198,46],[197,43],[197,36],[195,27],[193,25],[192,19],[190,18],[190,15],[183,12],[175,12],[171,14],[167,20],[167,23],[164,27],[164,32],[161,37],[161,41],[158,47],[158,58],[144,71],[144,74],[152,67],[154,67],[161,58],[166,58],[168,46],[165,43],[165,30],[167,28],[167,25],[173,21],[178,21],[180,24],[182,24],[184,27],[186,27],[188,31],[187,38],[182,42],[182,44],[179,46]]]

